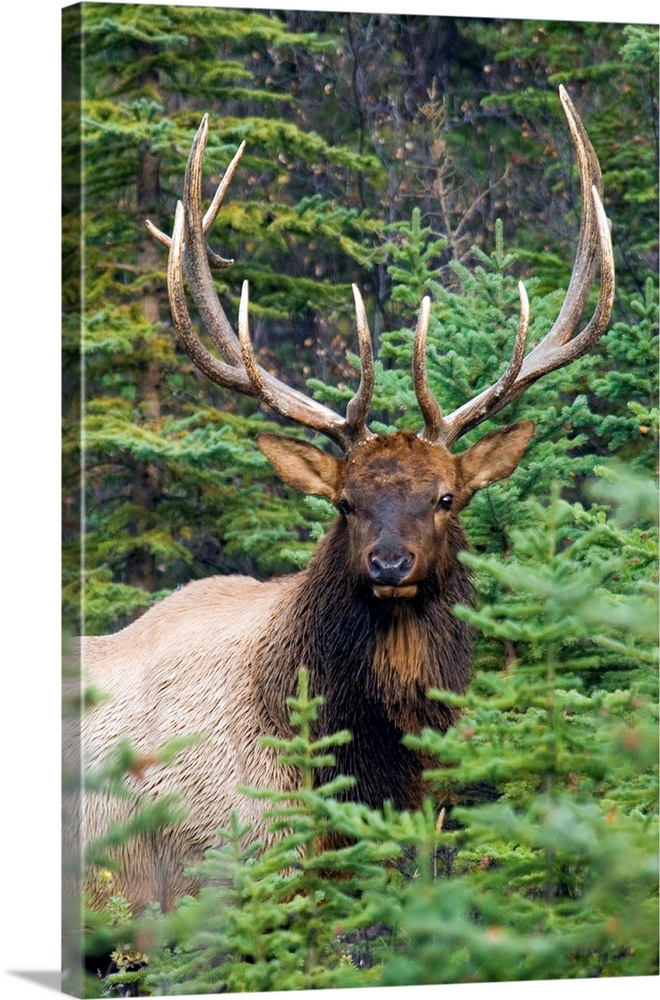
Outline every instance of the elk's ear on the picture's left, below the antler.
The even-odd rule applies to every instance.
[[[288,486],[337,502],[341,490],[341,459],[306,441],[280,434],[257,434],[257,444]]]

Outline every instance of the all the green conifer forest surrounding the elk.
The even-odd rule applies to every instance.
[[[318,738],[300,663],[292,735],[268,737],[300,793],[258,792],[278,835],[259,842],[234,814],[196,863],[200,891],[136,910],[112,891],[113,850],[175,828],[185,802],[132,779],[187,744],[117,734],[103,766],[83,759],[84,794],[123,797],[131,819],[86,849],[107,902],[66,902],[83,958],[72,932],[65,990],[657,975],[657,26],[94,2],[63,28],[70,636],[118,632],[189,581],[295,573],[342,516],[285,485],[256,438],[334,446],[211,382],[177,338],[168,252],[145,220],[173,232],[203,115],[205,206],[246,144],[208,234],[233,260],[213,272],[227,316],[249,281],[259,364],[343,415],[357,285],[375,433],[421,427],[424,296],[443,413],[505,371],[519,281],[528,351],[555,322],[581,213],[561,85],[600,162],[616,270],[597,345],[456,445],[536,426],[515,472],[461,514],[474,599],[453,613],[474,634],[473,675],[465,693],[428,694],[456,710],[446,732],[402,735],[427,762],[424,807],[372,808],[321,780],[350,734]],[[598,280],[584,322],[597,299]],[[65,713],[112,696],[83,676]]]

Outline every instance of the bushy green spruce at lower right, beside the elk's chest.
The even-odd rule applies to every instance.
[[[457,613],[512,657],[449,696],[457,727],[408,738],[454,808],[388,985],[657,973],[657,529],[557,497],[536,515],[507,563],[464,556],[506,600]],[[484,786],[497,801],[456,806]]]

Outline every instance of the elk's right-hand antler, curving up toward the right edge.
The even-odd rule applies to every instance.
[[[449,447],[462,434],[521,396],[537,379],[581,358],[607,329],[614,301],[614,258],[610,227],[601,202],[600,166],[577,111],[563,87],[559,88],[559,97],[577,152],[582,191],[580,235],[566,297],[551,329],[525,357],[529,303],[520,282],[520,321],[509,367],[488,389],[444,417],[428,387],[424,354],[428,308],[422,309],[413,348],[413,376],[415,393],[424,417],[424,430],[420,432],[420,437],[434,444]],[[584,329],[573,336],[599,266],[600,292],[596,308]]]

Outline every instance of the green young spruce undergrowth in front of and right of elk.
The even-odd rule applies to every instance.
[[[457,609],[477,674],[467,695],[430,696],[459,723],[408,737],[438,761],[421,812],[315,784],[350,734],[314,739],[301,670],[295,736],[271,739],[300,791],[258,793],[279,839],[263,849],[234,817],[197,868],[209,886],[173,913],[133,918],[121,897],[89,912],[88,951],[116,969],[86,995],[656,974],[657,493],[621,470],[605,486],[590,510],[535,505],[506,561],[463,557],[502,597]],[[329,834],[345,846],[323,849]]]

